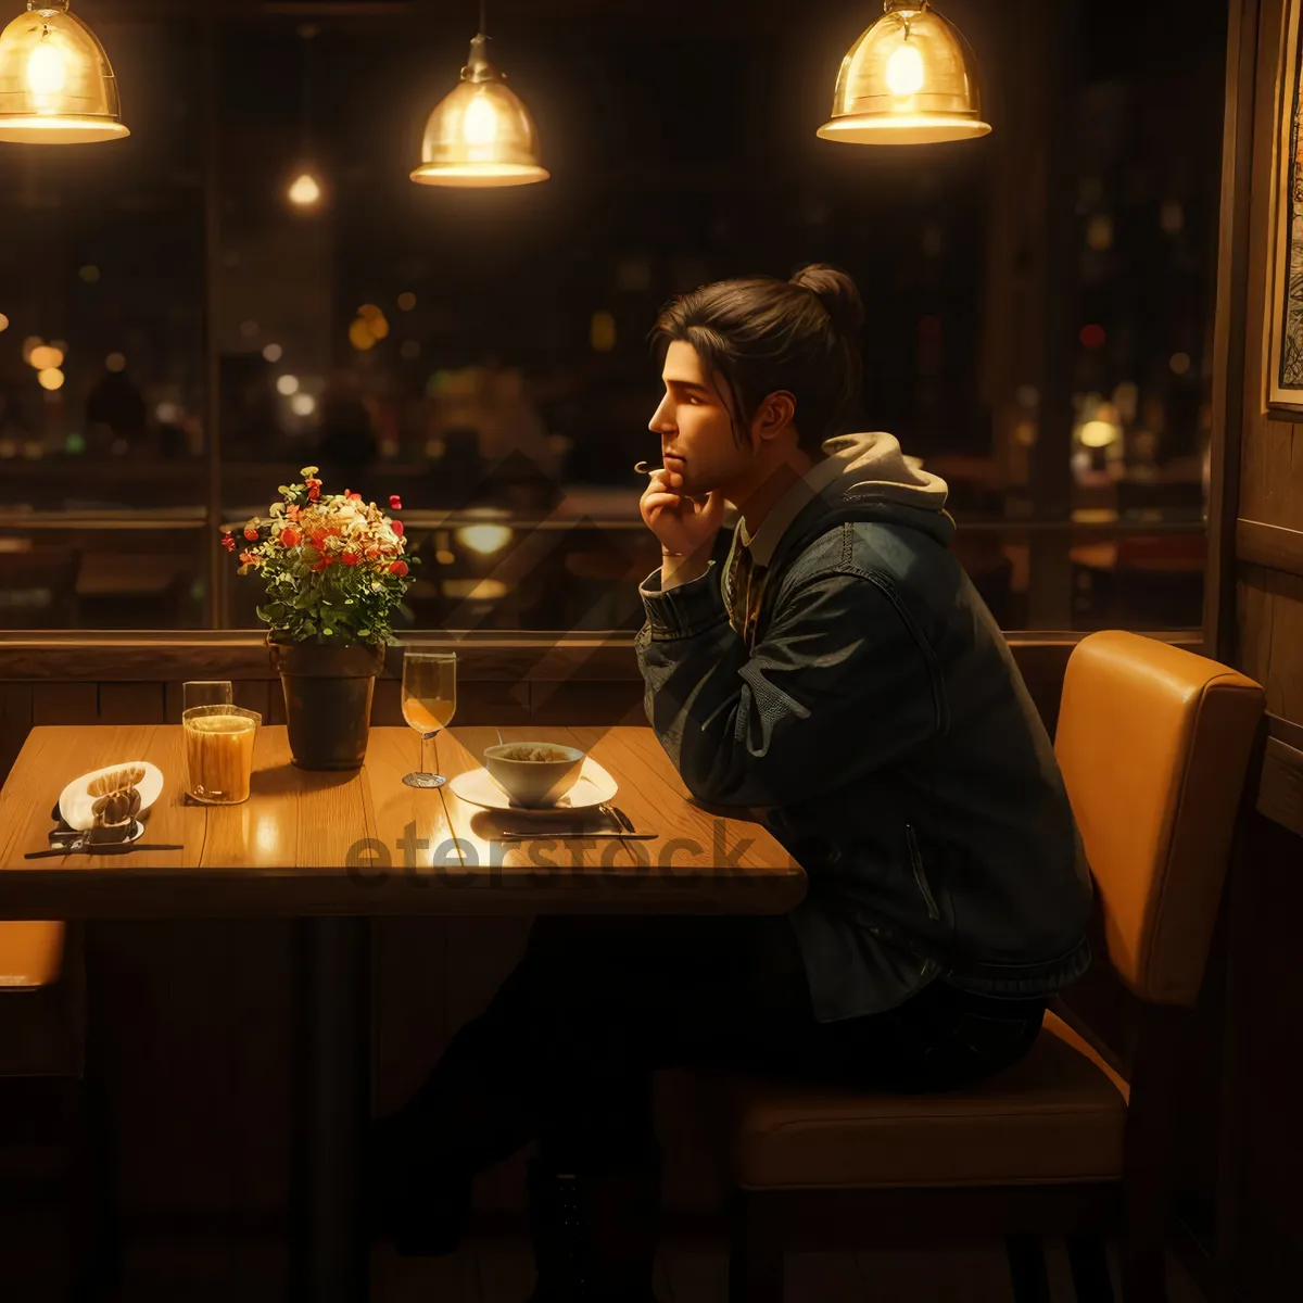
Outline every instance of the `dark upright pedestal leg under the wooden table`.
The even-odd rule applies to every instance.
[[[293,1136],[296,1303],[365,1303],[370,1243],[362,1143],[370,1117],[369,919],[305,919],[297,936]]]

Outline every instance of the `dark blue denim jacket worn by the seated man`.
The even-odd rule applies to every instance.
[[[853,439],[899,453],[843,437],[847,460]],[[689,792],[758,808],[809,876],[792,924],[823,1022],[937,979],[1049,994],[1091,958],[1089,872],[1036,706],[954,521],[880,476],[848,470],[783,529],[749,646],[714,562],[668,590],[652,575],[636,640]]]

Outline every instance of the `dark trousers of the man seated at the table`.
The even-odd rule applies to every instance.
[[[946,1089],[1022,1058],[1044,1010],[934,981],[887,1012],[820,1023],[786,917],[541,919],[404,1110],[421,1119],[407,1157],[470,1174],[538,1140],[554,1170],[611,1170],[654,1145],[657,1068]]]

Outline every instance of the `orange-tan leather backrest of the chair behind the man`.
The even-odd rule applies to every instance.
[[[1197,998],[1263,706],[1252,679],[1135,633],[1068,661],[1054,751],[1109,959],[1141,999]]]

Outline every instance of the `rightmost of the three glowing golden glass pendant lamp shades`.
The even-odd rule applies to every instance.
[[[852,145],[928,145],[985,136],[977,60],[926,0],[886,12],[842,60],[818,136]]]

